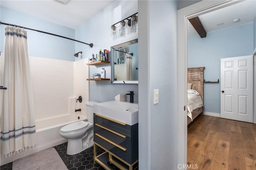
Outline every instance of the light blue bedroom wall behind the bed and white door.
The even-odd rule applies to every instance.
[[[188,67],[205,66],[204,79],[220,79],[220,59],[253,54],[253,23],[188,37]],[[220,83],[204,84],[204,111],[220,113]]]

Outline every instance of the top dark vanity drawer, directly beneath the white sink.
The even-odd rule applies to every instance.
[[[112,120],[113,119],[109,119],[108,117],[104,117],[102,115],[94,113],[94,123],[102,125],[108,129],[114,130],[130,138],[132,138],[133,135],[138,135],[138,123],[130,126],[127,124],[120,124],[118,123],[118,121],[114,122],[115,120]]]

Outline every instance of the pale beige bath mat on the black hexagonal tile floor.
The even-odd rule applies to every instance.
[[[12,162],[12,170],[67,170],[54,148],[42,150]]]

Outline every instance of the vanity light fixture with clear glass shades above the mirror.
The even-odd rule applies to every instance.
[[[111,26],[111,37],[113,39],[116,39],[118,37],[125,37],[126,34],[136,33],[136,31],[138,30],[138,16],[136,16],[136,14],[138,14],[138,12],[135,14],[132,14],[131,16],[128,16],[124,20],[114,23]],[[125,20],[127,20],[127,23]],[[115,26],[118,23],[120,23],[119,30]],[[127,25],[128,25],[128,29],[127,29]]]

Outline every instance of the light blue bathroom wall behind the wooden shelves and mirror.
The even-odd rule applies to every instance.
[[[121,13],[114,14],[114,9],[118,6],[121,6]],[[88,45],[83,45],[76,43],[76,51],[83,51],[82,55],[79,55],[76,60],[91,58],[92,54],[99,53],[99,49],[108,49],[110,50],[112,46],[118,45],[133,39],[138,38],[138,33],[126,35],[124,38],[118,38],[113,40],[110,37],[111,25],[116,23],[132,14],[138,12],[138,1],[115,1],[110,4],[86,21],[80,27],[75,30],[75,37],[80,41],[86,43],[93,43],[94,46],[90,48]],[[115,17],[119,17],[120,20],[114,21]],[[138,16],[138,18],[140,18]],[[118,24],[116,25],[118,26]],[[110,59],[110,53],[109,53]],[[104,64],[99,66],[90,66],[90,78],[92,74],[100,73],[100,69],[104,67],[106,70],[106,78],[111,78],[111,66],[110,64]],[[138,84],[111,84],[110,80],[104,81],[90,81],[90,99],[95,102],[106,102],[114,100],[114,97],[117,94],[126,94],[127,91],[134,91],[134,102],[138,102]],[[129,97],[127,96],[127,100]]]

